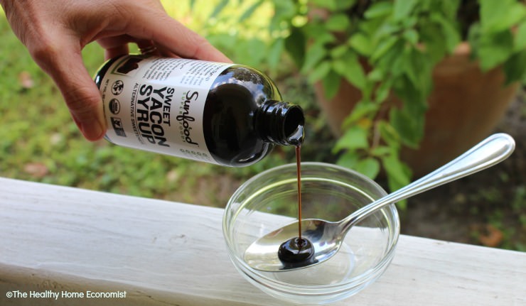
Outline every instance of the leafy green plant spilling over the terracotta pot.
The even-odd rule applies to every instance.
[[[269,28],[280,28],[282,35],[271,33],[272,38],[284,40],[309,82],[321,82],[328,98],[342,79],[363,94],[333,148],[343,151],[338,163],[373,178],[381,163],[392,189],[410,180],[399,152],[402,146],[417,148],[424,136],[433,68],[461,40],[468,39],[483,70],[503,65],[507,82],[526,81],[526,6],[517,0],[267,2],[275,11],[294,6]],[[480,18],[459,20],[466,7]],[[380,112],[392,102],[391,93],[402,106],[384,118]]]

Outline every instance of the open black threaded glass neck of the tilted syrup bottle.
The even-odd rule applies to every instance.
[[[301,146],[304,124],[300,106],[275,100],[264,102],[255,117],[255,128],[263,141],[284,146]]]

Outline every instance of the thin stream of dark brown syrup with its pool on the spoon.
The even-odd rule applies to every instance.
[[[304,266],[314,262],[311,241],[301,236],[301,143],[296,145],[296,173],[298,177],[298,236],[285,241],[278,250],[278,258],[286,267]]]

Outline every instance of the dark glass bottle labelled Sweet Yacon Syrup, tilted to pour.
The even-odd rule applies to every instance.
[[[245,65],[124,55],[95,75],[112,143],[209,163],[257,163],[303,141],[304,113]]]

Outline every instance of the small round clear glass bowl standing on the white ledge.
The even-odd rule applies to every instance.
[[[386,195],[364,175],[328,163],[301,163],[301,182],[304,219],[336,222]],[[245,263],[250,244],[297,220],[296,184],[296,164],[283,165],[252,177],[232,195],[223,234],[235,268],[265,293],[302,305],[327,304],[358,293],[392,261],[399,236],[394,204],[353,226],[336,256],[316,266],[274,273]]]

